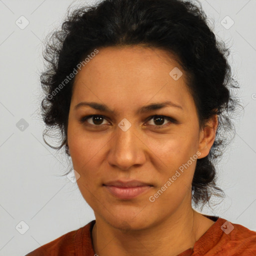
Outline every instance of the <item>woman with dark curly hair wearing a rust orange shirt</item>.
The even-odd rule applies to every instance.
[[[103,0],[52,34],[43,118],[95,220],[32,255],[255,255],[256,232],[195,211],[238,104],[228,49],[201,8]]]

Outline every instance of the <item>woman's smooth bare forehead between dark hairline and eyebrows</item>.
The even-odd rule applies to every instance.
[[[174,79],[173,72],[180,77]],[[104,102],[112,109],[165,100],[186,107],[191,100],[178,62],[164,50],[141,46],[99,48],[73,86],[75,103]]]

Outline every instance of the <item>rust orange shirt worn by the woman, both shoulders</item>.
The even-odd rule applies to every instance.
[[[256,256],[256,232],[218,216],[204,216],[215,223],[194,243],[193,248],[177,256]],[[25,256],[94,256],[91,239],[94,223],[92,220]]]

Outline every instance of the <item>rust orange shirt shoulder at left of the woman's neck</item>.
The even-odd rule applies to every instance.
[[[25,256],[72,256],[77,255],[77,250],[80,251],[82,246],[87,243],[91,247],[90,228],[95,220],[87,223],[76,230],[61,235],[53,241],[50,241],[37,249],[29,252]]]

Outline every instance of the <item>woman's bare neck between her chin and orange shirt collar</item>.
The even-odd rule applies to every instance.
[[[181,214],[186,212],[186,214]],[[196,240],[214,223],[192,209],[175,211],[171,216],[142,230],[121,230],[95,214],[92,229],[94,251],[99,256],[169,255],[193,247]]]

